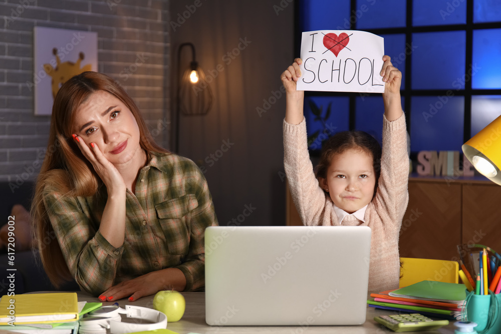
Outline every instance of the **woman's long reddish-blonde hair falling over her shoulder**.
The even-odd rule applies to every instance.
[[[114,79],[97,72],[84,72],[61,86],[52,107],[49,143],[31,208],[34,236],[42,264],[56,287],[73,277],[47,215],[43,193],[47,185],[52,185],[68,196],[96,194],[101,180],[74,142],[72,125],[75,111],[97,91],[114,95],[129,108],[139,127],[139,145],[142,149],[146,152],[168,153],[154,142],[136,104]]]

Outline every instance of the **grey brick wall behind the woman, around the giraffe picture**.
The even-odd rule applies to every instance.
[[[35,180],[47,147],[50,118],[34,116],[29,85],[35,26],[97,32],[98,71],[126,88],[168,148],[168,9],[168,0],[0,0],[0,182]]]

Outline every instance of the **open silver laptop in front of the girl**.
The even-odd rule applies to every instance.
[[[205,230],[209,325],[346,325],[366,319],[367,226]]]

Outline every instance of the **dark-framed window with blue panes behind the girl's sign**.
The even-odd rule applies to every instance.
[[[403,76],[412,152],[460,151],[501,114],[498,0],[302,0],[297,11],[298,55],[303,31],[353,29],[384,37],[385,53]],[[321,131],[318,117],[306,116],[310,101],[316,101],[323,108],[331,104],[336,132],[363,130],[381,140],[380,94],[307,92],[306,97],[308,134]],[[310,150],[315,155],[319,147]]]

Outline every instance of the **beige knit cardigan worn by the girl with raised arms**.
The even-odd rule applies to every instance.
[[[376,195],[367,206],[365,222],[353,215],[342,225],[369,226],[372,230],[369,291],[398,288],[400,261],[398,237],[409,200],[409,158],[405,115],[389,122],[383,116],[381,175]],[[334,203],[320,188],[313,172],[306,121],[292,125],[284,120],[284,166],[292,198],[305,225],[336,226]]]

